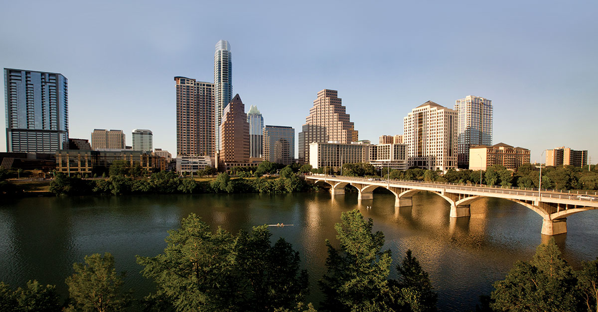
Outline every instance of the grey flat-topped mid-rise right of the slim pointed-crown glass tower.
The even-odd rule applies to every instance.
[[[282,165],[295,163],[295,129],[290,126],[264,128],[264,160]]]

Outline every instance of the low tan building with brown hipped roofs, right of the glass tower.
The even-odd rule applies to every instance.
[[[480,145],[469,149],[469,169],[486,170],[492,165],[503,165],[507,169],[517,169],[529,163],[529,150],[523,147],[512,147],[505,143],[493,146]]]

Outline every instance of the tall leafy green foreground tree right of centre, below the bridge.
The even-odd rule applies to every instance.
[[[392,304],[386,278],[392,259],[381,251],[384,234],[372,233],[373,221],[358,210],[343,212],[337,231],[339,248],[327,240],[327,273],[320,280],[327,311],[387,311]]]

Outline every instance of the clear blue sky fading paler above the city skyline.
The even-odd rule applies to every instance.
[[[597,1],[7,1],[0,65],[68,78],[69,137],[151,129],[176,154],[175,76],[213,82],[227,40],[233,94],[295,128],[321,89],[360,140],[411,109],[489,98],[493,144],[588,150],[598,163]],[[2,87],[4,81],[2,80]],[[5,99],[3,98],[3,102]],[[5,118],[0,126],[5,128]],[[0,135],[0,152],[6,150]],[[296,144],[296,142],[295,142]],[[297,148],[295,148],[297,153]]]

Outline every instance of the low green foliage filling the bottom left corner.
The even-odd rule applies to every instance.
[[[40,285],[36,280],[27,282],[25,289],[12,291],[10,286],[0,282],[0,311],[54,312],[62,310],[60,296],[54,285]]]

